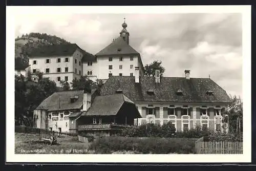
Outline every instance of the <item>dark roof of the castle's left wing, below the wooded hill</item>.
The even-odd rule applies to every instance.
[[[83,61],[95,61],[95,56],[81,49],[76,44],[62,44],[62,45],[45,45],[39,48],[34,48],[29,57],[44,57],[44,56],[71,56],[79,49],[83,53]]]

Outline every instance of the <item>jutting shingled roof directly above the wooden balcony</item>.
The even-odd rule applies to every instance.
[[[97,96],[88,112],[82,112],[81,116],[116,115],[124,102],[135,104],[123,94]]]

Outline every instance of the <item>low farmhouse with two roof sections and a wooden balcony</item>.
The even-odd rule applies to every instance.
[[[115,134],[140,118],[134,102],[122,93],[97,96],[92,91],[53,93],[34,110],[34,127],[65,133]]]

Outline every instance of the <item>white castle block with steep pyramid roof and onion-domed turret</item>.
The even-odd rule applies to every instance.
[[[130,33],[126,30],[127,24],[124,22],[122,27],[120,36],[95,55],[97,62],[92,71],[98,79],[106,80],[112,75],[134,76],[135,67],[139,67],[141,76],[144,73],[140,53],[129,45]],[[90,69],[87,71],[87,63],[84,65],[83,70],[86,74]]]

